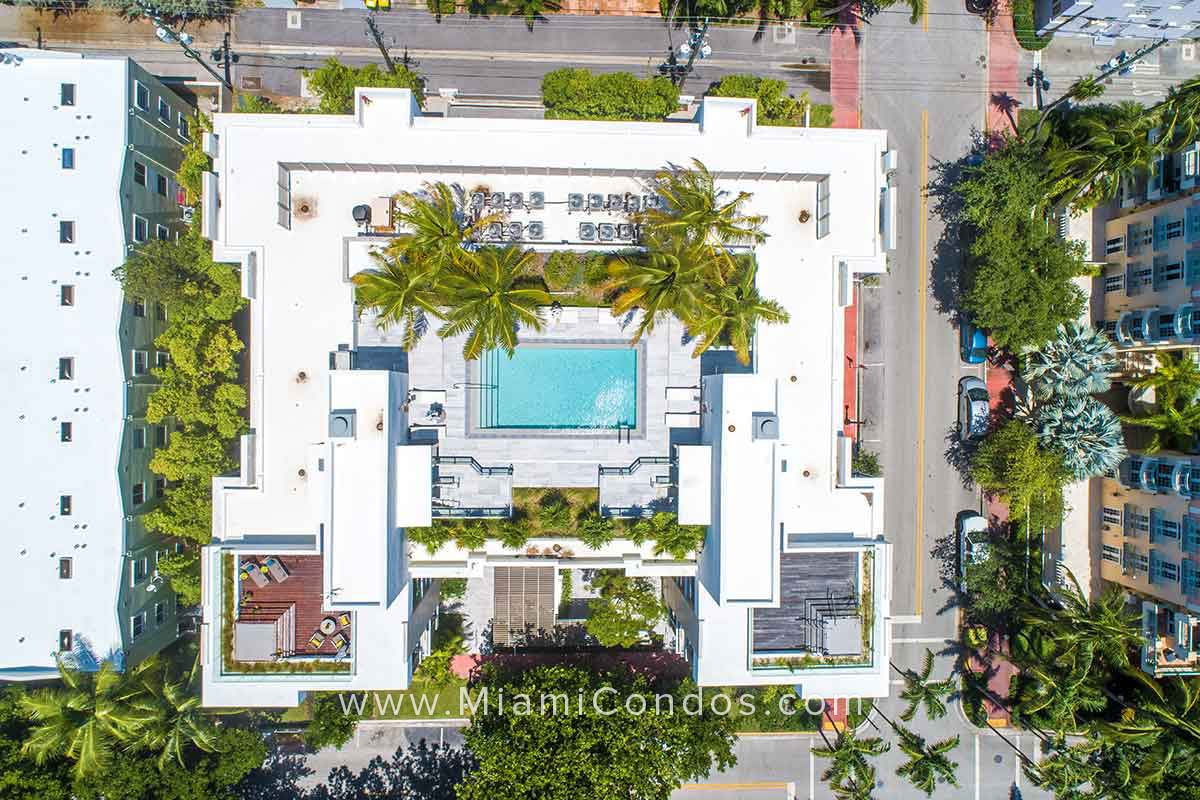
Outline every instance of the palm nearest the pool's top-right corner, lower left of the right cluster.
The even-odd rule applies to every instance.
[[[632,341],[654,330],[662,313],[672,313],[685,325],[696,320],[710,293],[724,283],[722,260],[680,233],[647,234],[646,252],[618,255],[608,273],[619,290],[612,303],[613,317],[642,309]]]

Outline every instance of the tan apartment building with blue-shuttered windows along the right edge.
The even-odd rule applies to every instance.
[[[1105,266],[1094,282],[1096,325],[1121,355],[1120,375],[1153,369],[1163,350],[1200,345],[1200,196],[1196,148],[1159,158],[1126,181],[1105,223]],[[1142,668],[1200,674],[1200,458],[1133,452],[1094,481],[1092,525],[1100,577],[1142,599]]]

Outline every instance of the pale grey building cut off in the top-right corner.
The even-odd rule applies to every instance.
[[[1188,38],[1200,28],[1200,0],[1171,4],[1038,0],[1036,14],[1039,36],[1049,32],[1091,36],[1104,43],[1118,38]]]

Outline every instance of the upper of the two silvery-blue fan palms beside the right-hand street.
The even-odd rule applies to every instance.
[[[1091,325],[1070,321],[1060,325],[1055,338],[1039,349],[1025,353],[1021,374],[1039,398],[1049,399],[1103,392],[1116,367],[1112,339]]]

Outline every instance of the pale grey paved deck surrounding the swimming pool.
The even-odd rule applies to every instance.
[[[628,336],[632,320],[616,319],[606,308],[569,308],[541,332],[522,331],[522,341],[595,341]],[[548,317],[548,314],[547,314]],[[431,327],[436,327],[434,325]],[[440,339],[431,330],[408,353],[408,373],[414,390],[445,390],[445,425],[422,431],[438,438],[442,456],[473,456],[484,467],[512,464],[512,485],[596,486],[596,468],[624,467],[640,456],[668,456],[671,443],[696,438],[694,417],[667,415],[667,386],[697,386],[700,360],[691,357],[692,345],[683,342],[683,326],[673,317],[664,317],[644,339],[646,387],[643,435],[628,437],[617,432],[600,437],[574,438],[529,433],[504,437],[467,435],[467,392],[469,380],[462,356],[466,337]],[[364,317],[358,326],[360,348],[396,347],[400,331],[380,331],[373,318]],[[642,409],[640,408],[641,413]],[[674,427],[672,427],[674,426]],[[641,426],[640,426],[641,427]]]

